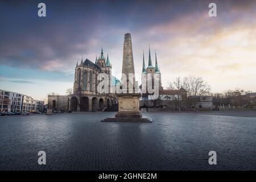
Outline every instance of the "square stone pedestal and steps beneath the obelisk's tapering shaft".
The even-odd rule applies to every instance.
[[[103,122],[152,122],[150,118],[142,118],[139,110],[141,94],[117,94],[118,113],[114,118],[106,118]]]

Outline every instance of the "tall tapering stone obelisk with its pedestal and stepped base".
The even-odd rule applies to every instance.
[[[125,34],[123,42],[123,62],[122,62],[122,93],[116,94],[118,97],[118,113],[115,118],[106,118],[104,122],[152,122],[150,118],[142,118],[139,110],[140,93],[135,93],[135,72],[133,62],[133,46],[131,34]],[[131,75],[133,77],[131,77]],[[130,80],[129,80],[130,76]],[[123,85],[127,85],[126,88]]]

